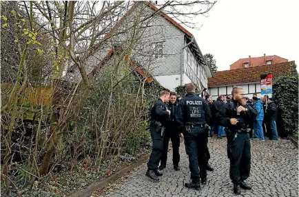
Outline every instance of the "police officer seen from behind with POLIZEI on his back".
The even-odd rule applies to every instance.
[[[185,187],[200,189],[200,178],[203,185],[207,184],[205,124],[211,124],[212,115],[207,102],[202,97],[195,95],[195,88],[192,83],[186,84],[187,95],[178,104],[175,120],[179,125],[185,127],[185,148],[189,156],[192,179],[191,183],[185,183]]]

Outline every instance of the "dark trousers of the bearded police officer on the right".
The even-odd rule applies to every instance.
[[[251,152],[249,134],[238,133],[237,137],[227,136],[227,156],[229,157],[229,177],[238,185],[249,177]]]

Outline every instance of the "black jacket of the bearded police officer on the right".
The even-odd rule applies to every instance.
[[[258,112],[255,108],[252,108],[248,104],[245,104],[243,107],[247,108],[247,111],[241,111],[240,115],[237,115],[238,102],[235,100],[227,102],[216,115],[219,124],[229,128],[230,130],[248,128],[250,122],[258,115]],[[236,125],[232,125],[230,122],[231,118],[236,118],[239,122]]]

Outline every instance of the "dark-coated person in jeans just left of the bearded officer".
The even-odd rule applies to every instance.
[[[212,117],[214,121],[214,131],[217,130],[218,132],[218,138],[222,138],[225,136],[224,127],[220,126],[218,124],[218,119],[216,118],[217,113],[220,111],[220,108],[222,108],[225,105],[223,102],[223,95],[219,95],[218,99],[213,103],[212,106]]]

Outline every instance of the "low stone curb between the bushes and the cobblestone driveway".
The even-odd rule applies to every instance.
[[[100,181],[97,183],[92,183],[91,185],[88,185],[87,188],[76,191],[71,196],[72,197],[89,197],[89,196],[91,196],[94,191],[101,189],[101,188],[105,187],[107,184],[116,181],[116,179],[121,178],[124,174],[127,174],[127,172],[130,172],[135,167],[138,167],[139,165],[141,165],[142,163],[147,161],[147,159],[149,158],[149,155],[150,155],[150,153],[145,154],[143,157],[141,157],[140,159],[138,159],[137,161],[135,161],[128,167],[125,167],[125,168],[119,170],[118,172],[112,174],[109,177],[103,177],[103,179],[104,179],[103,181]]]

